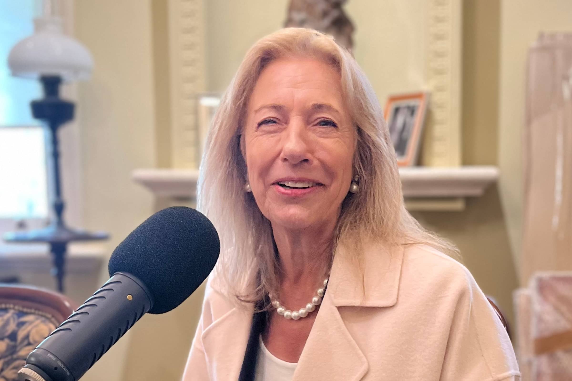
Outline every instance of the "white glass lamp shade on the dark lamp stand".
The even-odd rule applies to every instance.
[[[58,17],[34,19],[34,34],[10,51],[8,66],[15,77],[37,79],[59,75],[63,81],[88,79],[93,58],[85,46],[62,33]]]

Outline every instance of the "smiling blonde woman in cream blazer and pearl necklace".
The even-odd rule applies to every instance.
[[[331,37],[247,53],[202,159],[220,234],[184,380],[517,380],[455,249],[403,206],[382,110]]]

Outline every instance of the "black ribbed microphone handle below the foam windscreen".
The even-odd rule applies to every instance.
[[[19,380],[77,381],[152,305],[140,280],[116,272],[30,352]]]

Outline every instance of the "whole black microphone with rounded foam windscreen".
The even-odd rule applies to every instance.
[[[146,312],[184,302],[219,252],[219,235],[200,212],[179,206],[150,216],[113,251],[111,278],[30,352],[18,380],[77,381]]]

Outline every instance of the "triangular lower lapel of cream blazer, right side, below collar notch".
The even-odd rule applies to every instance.
[[[345,328],[331,295],[326,292],[292,381],[358,381],[367,370],[366,356]]]

